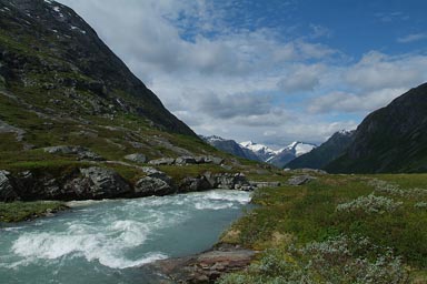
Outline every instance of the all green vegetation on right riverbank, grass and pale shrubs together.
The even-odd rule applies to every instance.
[[[408,283],[408,272],[425,283],[426,184],[427,174],[318,175],[259,190],[221,242],[264,253],[220,283]]]

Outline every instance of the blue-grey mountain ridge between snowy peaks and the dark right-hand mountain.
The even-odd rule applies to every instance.
[[[341,130],[334,133],[325,143],[309,153],[302,154],[287,163],[289,169],[322,169],[329,162],[344,154],[352,142],[355,131]]]

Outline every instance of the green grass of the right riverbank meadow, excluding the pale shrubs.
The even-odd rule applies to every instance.
[[[286,175],[278,180],[285,181]],[[426,283],[427,210],[416,209],[424,196],[394,196],[375,192],[403,204],[393,212],[368,214],[364,211],[338,212],[338,204],[348,203],[375,191],[371,179],[398,184],[403,191],[424,187],[427,174],[319,175],[302,186],[282,185],[255,193],[258,204],[227,231],[221,242],[266,251],[290,245],[302,247],[311,242],[347,236],[367,237],[375,246],[390,247],[411,270],[411,277]],[[307,256],[305,256],[307,257]],[[238,283],[238,282],[227,282]],[[319,283],[322,283],[321,281]]]

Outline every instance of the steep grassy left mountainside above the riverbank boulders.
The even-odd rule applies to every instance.
[[[218,154],[71,9],[43,0],[0,6],[0,169],[80,163],[41,150],[53,145],[113,161],[135,152],[149,160]]]

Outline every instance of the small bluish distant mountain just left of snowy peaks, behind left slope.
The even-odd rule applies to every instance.
[[[235,140],[224,139],[217,135],[211,136],[202,136],[200,135],[202,140],[205,140],[210,145],[215,146],[218,150],[221,150],[226,153],[240,156],[248,160],[259,161],[258,156],[250,150],[242,148],[239,145]]]

